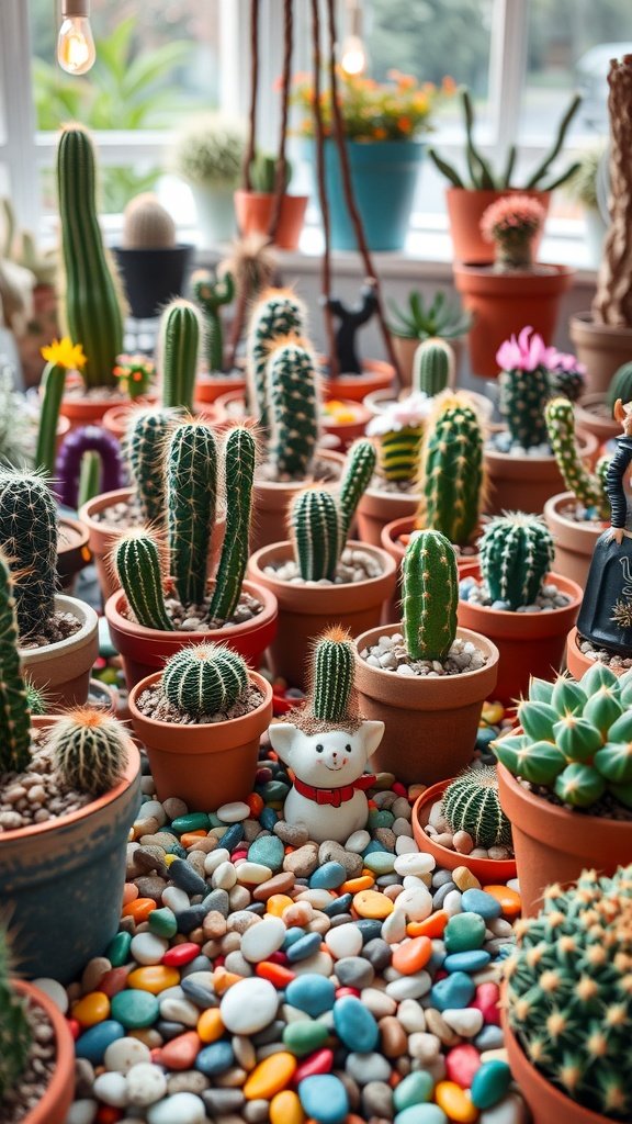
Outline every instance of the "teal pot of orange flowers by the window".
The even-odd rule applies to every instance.
[[[418,140],[346,140],[351,182],[370,250],[401,250],[408,233],[424,145]],[[316,149],[305,143],[313,197],[318,199]],[[333,250],[358,250],[346,208],[338,152],[325,140],[325,187]]]

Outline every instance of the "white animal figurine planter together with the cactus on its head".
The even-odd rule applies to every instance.
[[[314,651],[313,685],[305,709],[269,728],[272,749],[294,773],[283,816],[316,843],[345,843],[369,817],[364,768],[383,734],[383,722],[362,719],[352,703],[353,649],[341,628],[324,633]]]

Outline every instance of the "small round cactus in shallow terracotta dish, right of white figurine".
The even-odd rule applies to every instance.
[[[464,769],[443,794],[450,831],[467,832],[475,847],[512,845],[512,825],[500,807],[495,765]]]

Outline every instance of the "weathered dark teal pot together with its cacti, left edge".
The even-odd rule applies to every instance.
[[[0,804],[42,787],[37,800],[9,799],[11,810],[0,813],[0,896],[20,934],[21,970],[66,984],[117,931],[141,762],[103,711],[31,718],[19,611],[0,560]]]

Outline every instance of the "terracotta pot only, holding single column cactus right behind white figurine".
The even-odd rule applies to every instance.
[[[498,650],[485,636],[459,628],[457,635],[471,641],[487,663],[462,676],[398,676],[371,668],[360,652],[380,636],[400,632],[400,625],[382,625],[355,641],[355,678],[360,710],[365,718],[386,724],[385,735],[371,758],[373,769],[394,772],[405,785],[435,785],[464,768],[472,758],[482,704],[494,697]]]

